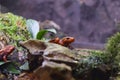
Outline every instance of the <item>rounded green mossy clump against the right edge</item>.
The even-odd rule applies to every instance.
[[[106,45],[106,59],[120,69],[120,32],[109,38]]]

